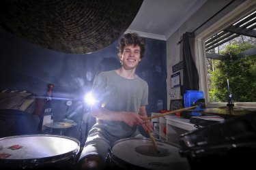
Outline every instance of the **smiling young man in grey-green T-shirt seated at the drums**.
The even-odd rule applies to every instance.
[[[138,126],[152,132],[150,120],[143,120],[147,117],[148,85],[135,73],[145,52],[145,39],[137,33],[127,33],[117,48],[122,66],[99,73],[91,90],[98,100],[97,105],[91,106],[91,116],[96,118],[96,124],[85,141],[79,169],[104,169],[112,143],[124,138],[143,137]]]

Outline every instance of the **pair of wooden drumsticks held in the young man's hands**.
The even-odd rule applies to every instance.
[[[182,108],[182,109],[176,109],[176,110],[173,110],[171,112],[165,112],[164,114],[156,114],[154,116],[150,116],[150,117],[147,117],[147,118],[143,118],[143,120],[151,120],[153,118],[159,118],[159,117],[162,117],[162,116],[167,116],[169,114],[176,114],[177,112],[182,112],[184,110],[187,110],[187,109],[193,109],[197,107],[197,105],[195,106],[192,106],[192,107],[186,107],[186,108]],[[147,134],[150,135],[150,138],[152,139],[152,142],[153,142],[153,146],[154,148],[156,148],[156,151],[157,152],[160,152],[159,149],[158,149],[158,146],[156,145],[156,140],[154,139],[152,133],[150,131],[147,131]]]

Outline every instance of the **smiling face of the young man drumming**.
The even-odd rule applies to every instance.
[[[141,61],[141,48],[139,46],[125,46],[120,57],[124,69],[135,69]]]

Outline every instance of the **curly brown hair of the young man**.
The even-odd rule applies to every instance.
[[[137,33],[126,33],[120,39],[117,49],[119,50],[118,56],[121,57],[124,52],[125,46],[139,46],[141,48],[141,56],[143,58],[143,54],[145,52],[145,44],[146,40],[143,37],[139,37]]]

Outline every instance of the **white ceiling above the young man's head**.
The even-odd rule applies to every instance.
[[[168,39],[207,0],[144,0],[127,32]]]

